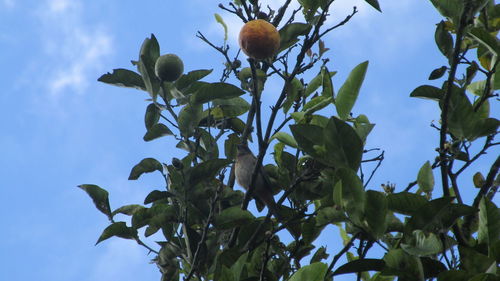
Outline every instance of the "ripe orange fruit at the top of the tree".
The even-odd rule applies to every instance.
[[[240,31],[241,50],[254,59],[272,57],[280,47],[280,34],[274,25],[263,19],[247,22]]]

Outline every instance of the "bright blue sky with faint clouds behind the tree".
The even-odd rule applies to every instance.
[[[429,125],[438,120],[437,106],[409,94],[445,64],[434,46],[440,16],[428,1],[379,1],[382,14],[363,1],[337,0],[329,23],[353,5],[359,13],[325,42],[329,69],[339,72],[336,89],[354,66],[370,60],[354,113],[377,124],[367,148],[384,149],[386,160],[369,188],[390,181],[401,190],[436,155],[437,133]],[[274,8],[281,2],[267,1]],[[216,81],[223,59],[195,34],[222,43],[218,12],[235,52],[241,26],[218,3],[0,0],[0,280],[159,280],[147,252],[131,241],[94,246],[107,221],[76,186],[106,188],[112,208],[142,202],[162,179],[128,181],[132,166],[182,154],[168,138],[142,141],[145,93],[96,80],[113,68],[133,69],[130,60],[154,33],[162,53],[178,54],[187,71],[214,68],[208,79]],[[268,86],[264,102],[277,95],[275,86]],[[471,170],[484,171],[489,159]],[[322,239],[333,253],[341,247],[335,237]]]

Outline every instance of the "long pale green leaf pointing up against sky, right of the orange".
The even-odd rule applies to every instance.
[[[346,120],[351,113],[354,103],[359,95],[359,90],[365,79],[366,70],[368,68],[368,61],[362,62],[357,65],[346,81],[340,88],[337,98],[335,100],[335,106],[337,107],[337,113],[340,119]]]

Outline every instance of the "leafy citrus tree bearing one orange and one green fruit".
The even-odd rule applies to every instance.
[[[422,85],[409,94],[429,99],[441,112],[433,124],[437,155],[407,187],[379,188],[370,180],[383,153],[374,157],[365,149],[374,124],[352,113],[368,61],[334,91],[336,72],[322,40],[357,10],[328,26],[333,0],[297,2],[287,0],[277,10],[257,0],[220,4],[246,23],[239,38],[246,56],[226,41],[219,46],[197,34],[220,55],[223,69],[184,73],[182,60],[161,55],[151,35],[133,61],[137,72],[115,69],[99,78],[148,94],[144,140],[171,138],[185,157],[146,158],[132,168],[130,180],[150,172],[164,178],[164,188],[140,204],[111,208],[105,189],[81,185],[110,221],[97,243],[135,240],[154,254],[162,280],[314,281],[341,274],[357,280],[498,280],[500,212],[493,198],[500,158],[472,179],[462,178],[499,144],[490,103],[498,101],[500,88],[500,6],[431,0],[443,16],[435,39],[448,65],[430,73],[429,80],[440,79],[442,86]],[[377,0],[366,2],[380,11]],[[227,30],[221,16],[216,20]],[[206,80],[212,72],[220,73],[218,81]],[[281,89],[267,108],[261,96],[271,79]],[[235,188],[233,163],[238,145],[247,142],[255,165],[247,169],[251,181],[243,192]],[[375,167],[369,177],[367,167]],[[280,215],[247,210],[259,199],[254,193],[264,174]],[[471,185],[477,189],[467,203],[461,194]],[[257,209],[267,211],[260,201]],[[121,220],[124,215],[130,219]],[[331,225],[344,243],[338,252],[314,243]],[[152,235],[160,241],[149,241]],[[339,264],[344,256],[347,262]]]

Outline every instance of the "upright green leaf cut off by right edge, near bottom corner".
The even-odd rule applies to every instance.
[[[492,247],[500,240],[500,209],[490,200],[483,198],[479,203],[479,229],[477,234],[479,244],[489,248],[492,256]]]

